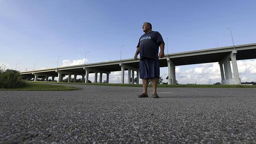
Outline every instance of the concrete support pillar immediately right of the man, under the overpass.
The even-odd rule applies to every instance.
[[[176,85],[175,65],[170,58],[167,59],[168,65],[168,85]]]

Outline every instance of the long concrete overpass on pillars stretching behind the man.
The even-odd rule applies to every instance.
[[[213,49],[203,49],[189,52],[171,53],[159,59],[160,67],[168,67],[168,84],[176,84],[175,66],[192,65],[209,62],[219,62],[221,83],[222,84],[241,84],[238,73],[236,60],[256,59],[256,43],[219,47]],[[232,63],[233,76],[231,72],[230,61]],[[28,72],[20,72],[24,78],[37,81],[38,78],[43,78],[46,81],[50,76],[58,77],[57,82],[62,82],[65,75],[69,75],[68,82],[71,82],[71,75],[74,75],[74,82],[77,75],[82,75],[82,82],[87,83],[89,73],[95,73],[95,82],[97,82],[98,73],[100,73],[99,82],[102,82],[102,73],[107,75],[106,82],[109,81],[111,72],[121,71],[121,83],[124,83],[125,70],[128,70],[128,83],[135,83],[135,71],[137,72],[138,84],[138,68],[139,59],[122,59],[108,62],[98,62],[85,65],[71,65],[65,67],[38,69]],[[132,78],[132,79],[129,79]]]

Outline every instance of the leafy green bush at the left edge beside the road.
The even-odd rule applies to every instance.
[[[26,85],[21,80],[22,76],[19,71],[13,69],[5,70],[3,65],[0,66],[0,88],[20,88]]]

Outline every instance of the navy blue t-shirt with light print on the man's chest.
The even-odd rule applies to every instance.
[[[164,40],[160,33],[156,31],[145,33],[141,36],[137,45],[140,49],[140,57],[158,59],[158,51],[161,43],[164,43]]]

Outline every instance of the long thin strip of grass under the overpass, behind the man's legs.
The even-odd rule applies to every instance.
[[[33,82],[33,81],[31,81]],[[35,82],[35,83],[57,83],[57,82]],[[141,84],[111,84],[111,83],[67,83],[58,82],[58,84],[70,84],[70,85],[106,85],[106,86],[131,86],[142,87]],[[148,85],[152,87],[152,85]],[[256,85],[158,85],[159,88],[256,88]]]

